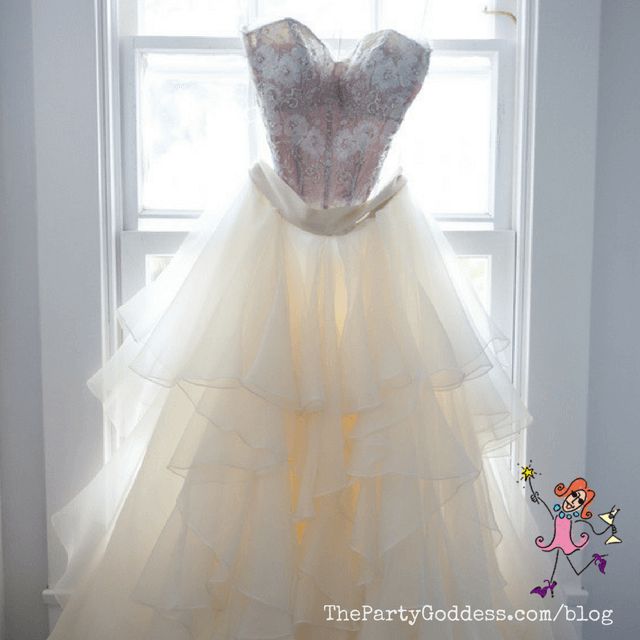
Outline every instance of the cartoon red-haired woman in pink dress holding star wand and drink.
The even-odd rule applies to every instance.
[[[596,492],[589,486],[584,478],[575,478],[568,485],[559,482],[554,489],[556,501],[552,507],[549,507],[533,486],[533,479],[537,473],[531,466],[531,462],[529,462],[529,465],[521,467],[521,469],[520,476],[531,490],[531,501],[535,504],[542,505],[549,513],[553,522],[552,535],[546,538],[545,536],[538,536],[535,539],[535,544],[541,551],[555,554],[553,570],[551,576],[544,580],[542,585],[534,587],[530,593],[537,594],[541,598],[544,598],[547,593],[551,593],[551,597],[553,597],[553,590],[558,584],[554,580],[554,577],[556,576],[561,557],[566,559],[573,572],[578,576],[592,565],[594,570],[604,574],[605,567],[607,566],[606,557],[609,555],[608,553],[593,553],[591,559],[584,564],[582,568],[578,568],[578,566],[583,563],[579,562],[577,556],[574,554],[587,546],[591,539],[591,534],[594,536],[603,536],[608,532],[609,537],[605,540],[605,545],[622,542],[616,535],[618,531],[613,524],[620,509],[614,505],[608,512],[599,514],[598,517],[605,522],[607,526],[602,531],[596,531],[596,528],[589,522],[589,519],[593,516],[593,513],[589,510],[589,506],[595,499]],[[585,531],[585,528],[591,529],[591,534]],[[580,554],[578,554],[578,556],[579,555]]]

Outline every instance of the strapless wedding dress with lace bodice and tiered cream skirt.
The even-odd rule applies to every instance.
[[[53,518],[50,639],[573,637],[328,619],[537,606],[546,559],[498,457],[531,418],[437,223],[401,173],[374,191],[430,48],[383,30],[334,61],[290,18],[243,39],[275,170],[118,310],[89,386],[122,445]]]

